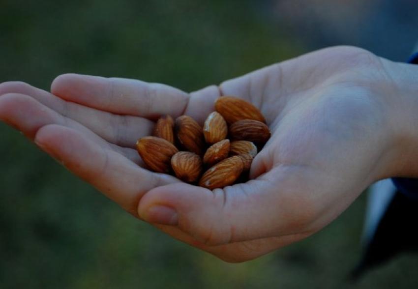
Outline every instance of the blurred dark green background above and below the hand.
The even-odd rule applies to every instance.
[[[0,0],[0,82],[75,72],[192,91],[338,44],[404,60],[415,0]],[[358,283],[366,196],[323,231],[228,264],[122,211],[0,123],[0,288],[416,288],[403,254]]]

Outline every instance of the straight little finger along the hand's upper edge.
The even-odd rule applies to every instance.
[[[162,84],[79,74],[60,75],[51,91],[62,99],[99,110],[147,118],[180,116],[189,99],[187,93]]]

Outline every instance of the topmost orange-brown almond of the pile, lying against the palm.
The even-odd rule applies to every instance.
[[[233,124],[241,119],[254,119],[266,123],[266,119],[251,103],[234,96],[221,96],[215,101],[215,111]]]

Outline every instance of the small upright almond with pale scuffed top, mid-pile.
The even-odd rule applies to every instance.
[[[225,140],[228,126],[225,119],[217,112],[212,112],[203,125],[203,135],[208,144],[215,144]]]

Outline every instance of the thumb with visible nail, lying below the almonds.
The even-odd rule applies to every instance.
[[[300,194],[284,190],[298,186],[287,183],[281,170],[286,169],[213,191],[188,184],[155,188],[141,199],[138,212],[151,223],[176,226],[207,245],[304,233],[313,208],[306,208]],[[303,211],[294,210],[298,205]]]

